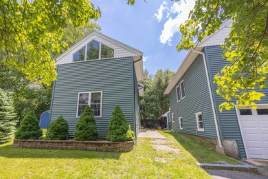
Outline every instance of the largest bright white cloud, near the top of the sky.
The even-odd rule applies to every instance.
[[[173,5],[168,9],[166,15],[168,20],[164,23],[164,29],[162,30],[159,38],[161,43],[168,43],[168,45],[171,45],[173,35],[179,32],[179,25],[188,19],[189,12],[194,8],[194,4],[195,0],[173,3]],[[172,18],[171,14],[174,14],[176,17]]]

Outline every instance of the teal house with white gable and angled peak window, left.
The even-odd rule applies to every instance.
[[[143,95],[138,83],[143,79],[142,54],[100,32],[91,32],[58,56],[50,123],[63,115],[72,137],[83,109],[90,105],[104,138],[109,132],[113,109],[120,105],[137,136],[139,96]]]

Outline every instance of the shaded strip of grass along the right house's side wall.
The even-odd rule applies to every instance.
[[[180,132],[163,131],[164,134],[173,136],[179,145],[186,149],[198,162],[208,163],[230,163],[241,164],[240,162],[233,160],[223,154],[216,152],[216,143],[213,143],[210,138],[204,138],[201,136],[193,136],[190,134],[183,134]]]

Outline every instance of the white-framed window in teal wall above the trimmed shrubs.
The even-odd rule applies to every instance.
[[[89,105],[95,117],[102,116],[102,92],[79,92],[76,117],[81,116]]]

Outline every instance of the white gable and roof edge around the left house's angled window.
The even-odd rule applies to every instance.
[[[81,39],[73,45],[69,50],[64,52],[63,54],[60,54],[55,59],[56,65],[65,64],[65,63],[74,63],[73,62],[73,54],[78,52],[81,48],[85,47],[87,43],[96,40],[104,45],[107,45],[110,48],[113,48],[114,50],[114,58],[122,58],[122,57],[128,57],[133,56],[133,61],[140,59],[143,55],[143,52],[132,48],[129,45],[126,45],[120,41],[117,41],[115,39],[112,39],[111,37],[104,35],[100,32],[92,31],[90,32],[85,38]],[[143,61],[138,61],[135,63],[135,73],[137,76],[137,81],[143,80]]]

